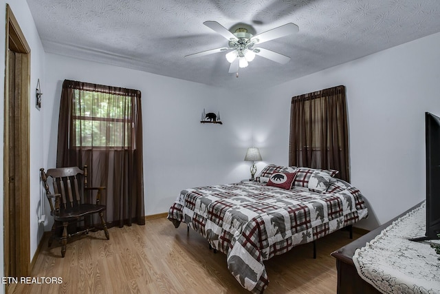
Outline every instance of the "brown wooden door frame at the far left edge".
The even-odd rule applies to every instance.
[[[10,226],[19,228],[15,234],[15,250],[17,259],[14,260],[17,276],[30,275],[30,47],[19,27],[17,19],[10,6],[6,4],[6,33],[5,33],[5,100],[4,100],[4,149],[3,149],[3,260],[4,275],[10,276]],[[8,50],[23,55],[21,59],[21,74],[19,81],[19,95],[16,96],[18,105],[19,123],[15,129],[9,129],[9,52]],[[10,132],[17,136],[15,158],[9,156]],[[10,160],[16,160],[17,173],[9,174],[8,164]],[[19,205],[17,209],[9,211],[10,193],[9,187],[13,183],[15,199]],[[11,216],[12,214],[12,216]],[[15,224],[10,222],[15,220]],[[8,285],[6,285],[8,291]]]

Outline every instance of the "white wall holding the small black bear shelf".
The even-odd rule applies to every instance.
[[[146,215],[168,211],[181,189],[248,178],[243,158],[252,134],[250,113],[242,110],[246,98],[218,87],[56,54],[47,54],[46,61],[43,107],[51,114],[45,121],[50,128],[44,140],[47,167],[56,164],[61,86],[70,79],[142,92]],[[203,108],[220,112],[223,125],[201,124]]]

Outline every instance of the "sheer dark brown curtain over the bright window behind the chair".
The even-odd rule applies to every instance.
[[[141,93],[65,80],[56,167],[88,166],[89,187],[107,187],[109,227],[145,224]]]

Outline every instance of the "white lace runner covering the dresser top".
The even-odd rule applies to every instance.
[[[382,293],[440,293],[439,255],[429,242],[408,240],[425,233],[423,202],[355,251],[353,262],[360,277]]]

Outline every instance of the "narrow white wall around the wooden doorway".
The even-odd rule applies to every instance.
[[[41,140],[41,128],[43,112],[39,112],[34,107],[35,102],[35,89],[38,78],[40,78],[41,89],[44,92],[45,81],[44,81],[44,59],[45,52],[41,41],[39,39],[38,32],[30,10],[28,8],[28,3],[25,0],[14,0],[14,1],[4,1],[0,0],[2,19],[5,19],[5,7],[6,3],[10,5],[14,16],[16,17],[21,30],[25,36],[26,41],[31,49],[31,72],[30,72],[30,258],[34,256],[36,247],[39,244],[39,240],[43,236],[44,227],[39,225],[38,216],[40,209],[40,176],[39,167],[43,164],[43,159],[41,155],[43,154],[43,144]],[[5,56],[5,25],[0,25],[0,56]],[[0,62],[0,72],[4,73],[5,63],[4,57],[3,62]],[[4,78],[4,76],[3,76]],[[2,80],[4,81],[4,79]],[[0,83],[0,95],[1,101],[4,101],[4,83]],[[4,125],[4,102],[0,103],[0,125]],[[3,179],[3,127],[0,127],[0,138],[2,144],[0,144],[0,178]],[[3,180],[0,181],[1,191],[4,191],[6,187],[3,187]],[[1,193],[0,209],[3,211],[3,196],[4,192]],[[3,217],[1,218],[1,223],[3,224]],[[3,225],[1,226],[3,228]],[[3,229],[0,236],[0,252],[3,253]],[[1,263],[4,264],[3,254],[0,254]],[[0,275],[3,277],[3,267],[0,269]],[[0,291],[4,291],[2,287]]]

